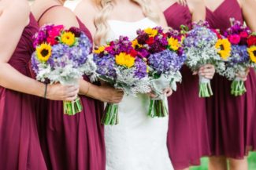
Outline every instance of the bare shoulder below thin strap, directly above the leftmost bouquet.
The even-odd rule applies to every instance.
[[[61,24],[65,27],[79,27],[76,15],[64,6],[55,6],[53,9],[47,11],[39,22],[40,26],[43,24]]]

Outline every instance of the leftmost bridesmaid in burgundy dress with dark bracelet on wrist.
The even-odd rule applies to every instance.
[[[28,62],[35,50],[32,36],[38,25],[27,0],[2,0],[0,6],[0,169],[46,170],[34,98],[73,100],[78,88],[46,88],[31,78]]]

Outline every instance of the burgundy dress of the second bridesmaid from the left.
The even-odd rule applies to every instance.
[[[92,42],[87,27],[77,20]],[[86,76],[84,79],[89,81]],[[74,116],[63,114],[62,101],[47,100],[46,112],[41,110],[39,134],[49,170],[105,170],[104,130],[100,123],[103,103],[87,96],[80,96],[80,100],[83,110]]]

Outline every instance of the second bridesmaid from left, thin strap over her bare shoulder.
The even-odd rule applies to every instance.
[[[32,11],[43,24],[63,24],[80,27],[91,39],[91,34],[71,10],[63,7],[64,1],[36,0]],[[45,118],[41,118],[41,143],[47,168],[53,170],[105,170],[106,156],[103,126],[100,118],[103,102],[118,103],[123,92],[107,86],[92,85],[84,76],[80,83],[83,111],[74,116],[63,114],[62,103],[48,101]],[[87,97],[90,96],[91,98]],[[95,99],[93,99],[95,98]]]

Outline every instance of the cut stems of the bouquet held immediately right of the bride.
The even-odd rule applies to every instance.
[[[210,79],[199,75],[199,97],[213,96],[213,90],[210,85]]]

